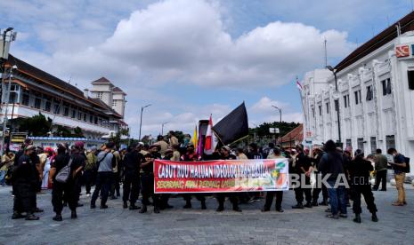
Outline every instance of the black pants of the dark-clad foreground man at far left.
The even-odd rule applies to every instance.
[[[13,210],[18,213],[33,213],[36,209],[37,186],[31,183],[19,182],[13,184]]]

